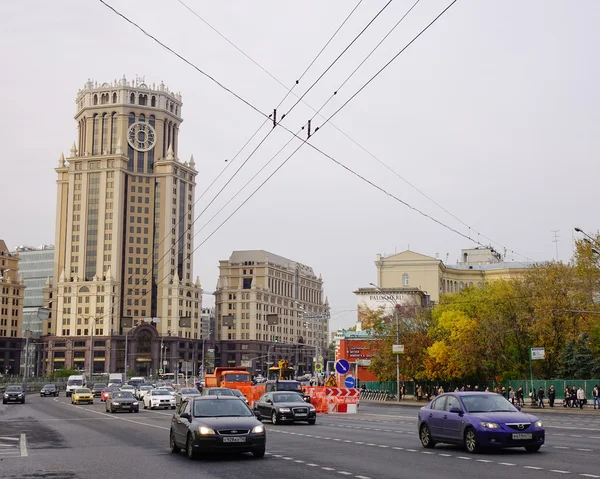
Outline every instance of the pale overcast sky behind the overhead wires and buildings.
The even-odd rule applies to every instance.
[[[358,3],[184,1],[288,88]],[[178,0],[107,2],[260,111],[270,113],[284,98],[286,88]],[[306,95],[306,103],[319,109],[338,91],[322,110],[331,115],[449,2],[421,0],[339,88],[414,3],[393,0]],[[364,0],[294,94],[304,93],[386,3]],[[560,230],[559,257],[568,260],[573,226],[598,228],[599,16],[595,0],[459,0],[335,116],[335,126],[325,125],[311,141],[464,235],[489,243],[479,234],[485,235],[500,251],[507,247],[511,259],[554,259],[551,230]],[[181,92],[180,158],[194,155],[196,197],[264,120],[97,0],[0,2],[0,43],[0,238],[11,248],[54,242],[54,168],[77,137],[75,96],[88,78],[139,75]],[[279,116],[295,102],[290,95]],[[300,103],[282,124],[297,131],[313,114]],[[323,121],[317,116],[313,130]],[[259,132],[198,202],[197,214],[269,130],[267,125]],[[300,144],[294,140],[206,225],[289,138],[282,128],[272,132],[197,220],[195,245]],[[218,261],[233,250],[265,249],[310,265],[323,275],[335,330],[354,323],[352,291],[376,281],[375,255],[409,245],[427,255],[449,254],[454,263],[461,248],[476,243],[305,145],[197,250],[194,267],[212,292]],[[211,303],[210,296],[204,299]]]

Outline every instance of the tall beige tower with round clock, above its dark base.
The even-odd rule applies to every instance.
[[[181,162],[182,101],[163,83],[88,81],[76,98],[78,140],[61,155],[52,321],[44,334],[126,334],[159,318],[160,336],[199,338],[193,280],[197,171]],[[182,319],[183,318],[183,319]]]

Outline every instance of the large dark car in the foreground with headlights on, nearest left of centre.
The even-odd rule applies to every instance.
[[[200,452],[251,452],[263,457],[267,434],[259,419],[235,396],[184,399],[171,421],[171,452],[185,449],[190,459]]]

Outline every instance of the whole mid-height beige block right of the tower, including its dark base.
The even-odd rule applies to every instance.
[[[234,251],[219,262],[215,334],[222,365],[265,373],[287,359],[300,373],[327,355],[329,304],[313,269],[264,250]]]

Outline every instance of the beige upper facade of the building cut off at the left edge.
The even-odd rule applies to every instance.
[[[11,253],[0,240],[0,338],[22,337],[24,290],[19,274],[19,253]]]

